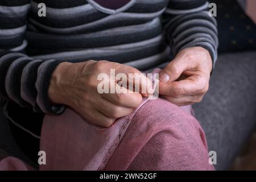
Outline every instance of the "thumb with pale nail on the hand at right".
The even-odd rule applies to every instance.
[[[181,74],[192,68],[197,67],[197,61],[188,59],[187,56],[177,55],[159,74],[159,80],[162,82],[171,82],[177,80]]]

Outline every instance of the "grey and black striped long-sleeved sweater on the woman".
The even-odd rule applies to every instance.
[[[0,97],[35,112],[61,113],[47,95],[61,61],[109,60],[144,71],[201,46],[215,63],[217,25],[207,1],[126,0],[113,9],[100,2],[1,0]],[[38,16],[39,3],[47,6],[46,17]]]

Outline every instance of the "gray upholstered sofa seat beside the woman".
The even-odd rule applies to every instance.
[[[217,152],[216,169],[228,169],[256,124],[256,52],[219,55],[209,92],[193,109]]]

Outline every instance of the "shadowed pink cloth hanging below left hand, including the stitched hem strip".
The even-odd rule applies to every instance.
[[[41,169],[103,169],[125,134],[136,110],[133,114],[119,119],[108,129],[90,125],[71,109],[57,117],[47,115],[43,123],[41,150],[46,151],[49,162]]]

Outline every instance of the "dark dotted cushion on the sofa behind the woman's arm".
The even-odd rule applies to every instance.
[[[256,51],[256,24],[234,0],[212,0],[217,4],[219,53]]]

